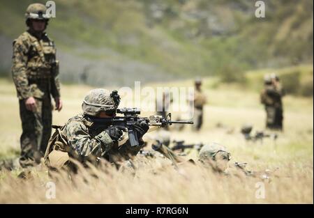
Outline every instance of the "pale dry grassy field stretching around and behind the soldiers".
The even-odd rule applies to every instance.
[[[283,104],[284,129],[276,143],[248,143],[240,133],[241,125],[252,123],[254,130],[264,129],[264,109],[257,92],[238,86],[210,88],[204,81],[209,103],[205,107],[204,126],[200,132],[172,131],[172,139],[187,143],[212,141],[230,150],[230,162],[248,162],[255,171],[269,169],[270,180],[246,178],[241,174],[222,176],[200,166],[184,164],[175,170],[167,159],[135,159],[135,176],[107,166],[95,169],[98,179],[82,169],[68,181],[54,180],[56,198],[47,198],[47,171],[32,169],[29,180],[17,178],[20,171],[0,172],[0,203],[313,203],[313,98],[287,95]],[[154,87],[170,84],[154,84]],[[192,81],[171,83],[191,86]],[[63,124],[80,112],[88,86],[62,86],[63,110],[54,112],[54,124]],[[15,88],[11,81],[0,80],[0,159],[17,157],[21,124]],[[216,124],[221,123],[222,127]],[[154,133],[147,134],[147,137]],[[147,148],[149,149],[149,148]],[[190,157],[196,157],[191,153]],[[263,182],[264,198],[256,197],[257,182]]]

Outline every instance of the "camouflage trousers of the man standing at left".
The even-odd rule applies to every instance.
[[[50,98],[35,99],[36,111],[27,110],[24,100],[20,100],[22,135],[20,137],[22,167],[40,163],[51,136],[52,104]]]

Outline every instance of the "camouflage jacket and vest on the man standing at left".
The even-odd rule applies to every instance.
[[[36,38],[26,31],[14,40],[11,72],[20,100],[60,96],[59,61],[46,33]]]

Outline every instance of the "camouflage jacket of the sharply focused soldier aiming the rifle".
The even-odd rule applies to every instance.
[[[136,155],[142,146],[131,147],[128,140],[118,147],[118,143],[114,143],[110,136],[104,130],[106,127],[96,127],[84,116],[78,114],[70,118],[66,125],[61,129],[61,133],[65,138],[70,153],[75,152],[73,157],[81,157],[82,159],[94,159],[94,157],[105,157],[112,160],[113,156],[128,159],[130,156]]]

